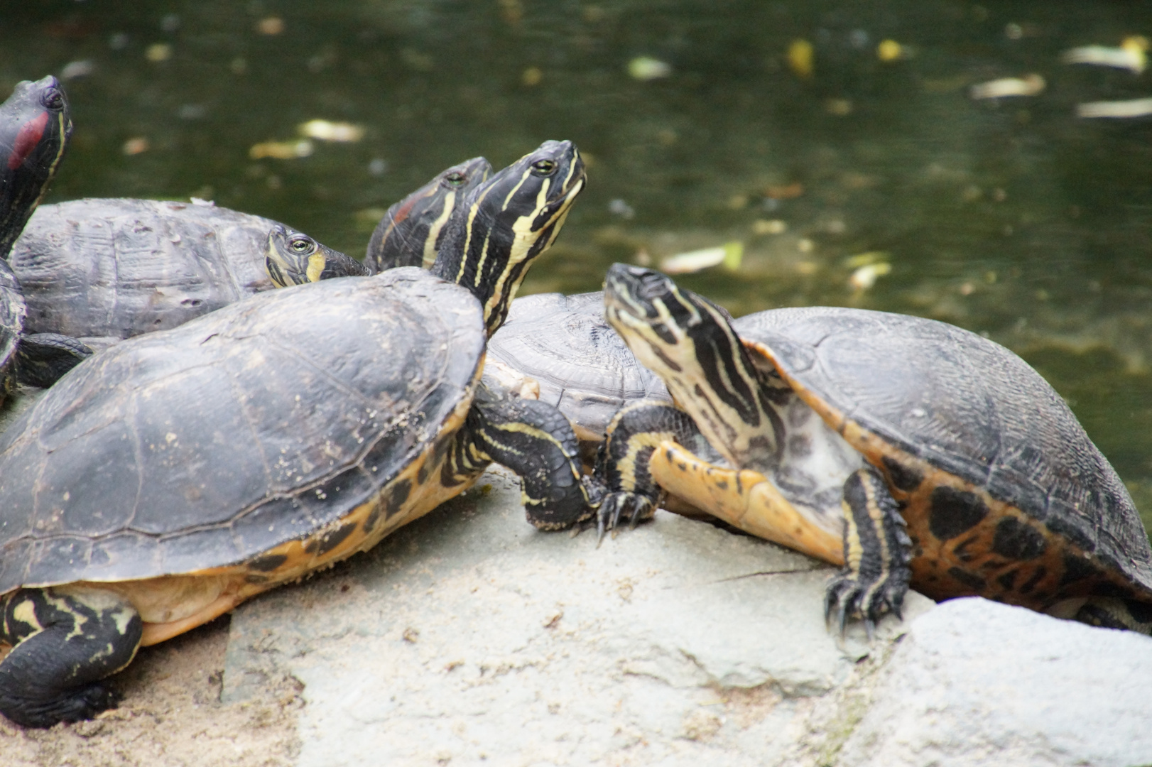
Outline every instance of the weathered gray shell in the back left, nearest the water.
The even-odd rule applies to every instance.
[[[197,203],[41,205],[9,257],[28,302],[25,332],[99,348],[270,289],[264,245],[275,223]]]

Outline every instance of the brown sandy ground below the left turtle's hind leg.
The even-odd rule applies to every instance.
[[[120,707],[90,722],[23,730],[0,717],[6,767],[289,767],[301,686],[220,703],[228,618],[143,648],[115,677]]]

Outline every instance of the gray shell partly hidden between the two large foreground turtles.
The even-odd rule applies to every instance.
[[[487,354],[535,379],[539,398],[564,413],[582,440],[602,440],[627,402],[672,398],[605,321],[602,293],[515,299]]]

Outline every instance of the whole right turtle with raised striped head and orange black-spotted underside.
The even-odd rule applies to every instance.
[[[597,465],[599,523],[661,492],[843,565],[825,615],[899,616],[909,583],[1147,633],[1152,548],[1071,410],[1005,347],[919,317],[775,309],[729,321],[614,265],[605,314],[675,405],[634,403]]]

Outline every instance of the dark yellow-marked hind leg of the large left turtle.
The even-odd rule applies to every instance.
[[[0,713],[22,727],[91,719],[116,705],[100,684],[131,662],[143,623],[120,595],[100,588],[21,588],[0,598]]]

